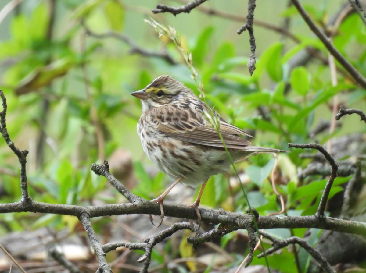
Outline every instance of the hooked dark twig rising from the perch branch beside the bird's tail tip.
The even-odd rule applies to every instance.
[[[301,148],[301,149],[317,149],[318,151],[320,151],[325,156],[325,159],[328,160],[328,162],[331,166],[330,177],[329,177],[328,181],[325,184],[323,194],[320,198],[320,203],[319,203],[319,206],[318,206],[317,213],[315,213],[315,217],[317,217],[317,219],[323,220],[325,218],[324,211],[325,211],[326,202],[328,201],[329,192],[330,192],[330,189],[332,188],[334,179],[337,177],[338,165],[335,162],[335,160],[333,159],[333,157],[320,144],[316,144],[316,143],[310,143],[310,144],[289,143],[288,147],[289,148]]]

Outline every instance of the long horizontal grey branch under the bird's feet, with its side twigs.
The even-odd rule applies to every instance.
[[[15,147],[15,144],[10,140],[9,134],[6,129],[5,115],[7,111],[7,104],[5,100],[5,96],[3,92],[0,92],[0,96],[3,102],[3,111],[0,112],[0,130],[1,134],[4,137],[5,141],[9,145],[9,147],[18,155],[19,157],[26,156],[24,151],[20,151]],[[292,144],[293,147],[301,146],[299,144]],[[307,147],[304,147],[307,148]],[[315,147],[318,148],[319,147]],[[323,152],[320,149],[321,152]],[[334,160],[331,162],[329,154],[324,154],[326,159],[332,165],[335,164]],[[19,160],[21,161],[21,160]],[[22,164],[22,162],[20,162]],[[25,167],[25,162],[24,162]],[[100,216],[111,216],[111,215],[121,215],[121,214],[154,214],[159,215],[160,209],[159,205],[155,203],[151,203],[147,200],[144,200],[138,196],[135,196],[130,191],[128,191],[113,175],[109,172],[108,162],[105,162],[104,165],[93,164],[91,169],[96,172],[98,175],[105,176],[108,181],[113,185],[121,194],[123,194],[131,203],[127,204],[108,204],[108,205],[91,205],[91,206],[78,206],[78,205],[62,205],[62,204],[48,204],[43,202],[37,202],[31,200],[31,198],[22,198],[19,202],[8,203],[8,204],[0,204],[0,213],[7,212],[37,212],[37,213],[53,213],[59,215],[72,215],[78,217],[79,221],[82,223],[85,228],[86,234],[89,236],[91,246],[93,247],[94,253],[96,253],[99,261],[98,272],[112,272],[111,267],[108,265],[105,259],[105,252],[110,251],[113,247],[118,246],[118,244],[107,244],[105,246],[101,246],[97,240],[96,233],[93,230],[90,219],[92,217],[100,217]],[[24,169],[25,170],[25,169]],[[333,172],[333,171],[332,171]],[[26,173],[22,173],[23,181],[25,181],[26,185]],[[329,179],[330,180],[330,179]],[[327,185],[329,184],[329,181]],[[331,186],[331,185],[330,185]],[[326,187],[327,189],[327,187]],[[322,200],[325,200],[328,197],[328,194],[325,194],[326,190],[323,193]],[[23,194],[23,192],[22,192]],[[325,206],[325,205],[324,205]],[[352,234],[366,235],[366,223],[358,222],[358,221],[348,221],[342,219],[335,219],[331,217],[324,216],[324,208],[323,209],[323,217],[321,220],[320,217],[316,216],[259,216],[257,219],[257,225],[259,229],[266,228],[321,228],[327,230],[334,230],[340,232],[349,232]],[[252,227],[252,216],[244,215],[242,213],[228,213],[225,211],[215,211],[209,209],[199,209],[202,220],[208,221],[213,224],[220,224],[219,228],[209,231],[202,232],[198,231],[197,236],[194,236],[190,240],[193,243],[200,243],[203,241],[209,241],[213,238],[218,238],[228,232],[231,232],[236,229],[247,229],[250,239],[250,249],[253,252],[253,245],[255,243],[254,230]],[[164,212],[166,216],[174,216],[180,218],[187,219],[197,219],[197,214],[195,213],[193,208],[188,208],[185,206],[177,206],[177,205],[164,205]],[[147,272],[147,268],[151,259],[151,251],[152,248],[159,242],[161,242],[164,238],[168,238],[174,232],[181,229],[196,229],[197,227],[191,226],[190,223],[178,223],[173,225],[172,227],[162,231],[157,236],[154,236],[145,241],[145,244],[133,244],[133,243],[119,243],[119,246],[126,246],[130,249],[143,249],[145,250],[145,255],[143,255],[139,261],[144,262],[144,266],[142,272]],[[249,255],[248,261],[253,257],[251,253]]]

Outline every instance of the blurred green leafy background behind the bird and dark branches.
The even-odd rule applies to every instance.
[[[90,171],[92,163],[105,159],[112,173],[128,189],[147,200],[157,197],[171,182],[157,172],[142,151],[136,133],[141,104],[129,94],[162,74],[182,81],[197,94],[198,86],[177,45],[145,22],[144,19],[151,21],[151,17],[176,30],[184,53],[191,53],[209,105],[232,124],[253,134],[254,144],[291,151],[279,156],[274,179],[285,200],[285,215],[317,212],[330,167],[324,160],[315,162],[316,165],[313,160],[318,155],[314,156],[313,151],[309,155],[309,151],[288,148],[288,143],[313,142],[324,145],[338,163],[345,162],[340,165],[340,177],[330,190],[329,198],[335,198],[328,204],[327,216],[349,219],[362,215],[365,124],[355,115],[345,116],[336,123],[334,116],[339,105],[365,110],[365,88],[342,63],[329,57],[328,49],[314,36],[291,1],[257,3],[253,26],[257,63],[252,76],[247,68],[248,33],[236,33],[246,20],[246,1],[207,1],[190,14],[176,16],[153,14],[151,10],[158,3],[128,0],[0,3],[0,87],[8,103],[7,129],[16,146],[29,151],[26,170],[33,200],[66,205],[127,202],[104,177]],[[182,3],[166,4],[178,7]],[[347,1],[302,1],[302,4],[342,56],[365,75],[362,11],[354,12]],[[304,153],[307,156],[300,156]],[[250,205],[261,216],[281,211],[269,179],[274,166],[272,155],[255,156],[237,165]],[[355,170],[359,171],[355,191],[361,195],[350,195],[352,204],[347,201],[350,206],[342,208],[344,189]],[[18,158],[5,141],[0,141],[1,203],[20,199],[19,175]],[[190,204],[194,194],[197,193],[180,186],[177,193],[172,192],[172,204]],[[248,208],[232,174],[210,178],[201,205],[239,213]],[[158,231],[150,226],[147,217],[140,217],[96,217],[92,224],[103,243],[138,242]],[[168,219],[166,224],[169,226],[171,221]],[[84,243],[74,243],[89,248],[85,231],[73,216],[32,212],[0,216],[2,236],[33,232],[41,227],[60,234],[66,232],[64,238],[84,238],[81,239]],[[285,239],[303,238],[305,232],[303,228],[268,233]],[[308,239],[311,246],[317,244],[320,233],[312,230]],[[157,250],[154,248],[151,265],[154,267],[150,271],[227,272],[228,268],[235,271],[249,252],[247,234],[238,231],[216,241],[219,250],[213,244],[206,247],[215,251],[208,251],[209,258],[200,259],[203,254],[193,252],[191,244],[186,242],[188,236],[183,232]],[[57,235],[51,237],[62,242]],[[53,242],[51,239],[41,240],[42,244]],[[270,242],[265,241],[263,246],[267,249]],[[226,259],[216,263],[216,251]],[[140,270],[131,260],[138,259],[141,252],[112,253],[107,261],[115,272],[119,268]],[[22,261],[30,259],[20,254],[18,257]],[[95,272],[98,268],[97,259],[90,253],[74,264],[82,272]],[[280,272],[306,272],[311,268],[311,257],[303,249],[285,248],[266,259],[254,258],[251,265],[256,264]],[[42,261],[30,268],[43,272],[52,270],[49,266]],[[362,268],[358,262],[357,266]],[[3,268],[8,270],[8,265]]]

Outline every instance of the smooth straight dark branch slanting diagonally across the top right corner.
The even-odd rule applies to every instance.
[[[308,24],[310,29],[314,32],[315,35],[322,41],[325,47],[329,50],[329,52],[336,58],[337,61],[350,73],[350,75],[355,79],[355,81],[366,88],[366,78],[358,72],[358,70],[346,59],[342,56],[342,54],[329,42],[328,37],[315,25],[314,21],[310,18],[309,14],[305,11],[303,6],[300,4],[298,0],[291,0],[292,4],[296,7],[302,18]]]

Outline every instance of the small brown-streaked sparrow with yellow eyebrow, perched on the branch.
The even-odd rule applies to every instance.
[[[190,205],[200,220],[198,204],[208,178],[230,167],[219,133],[208,117],[214,115],[219,121],[221,136],[234,161],[251,153],[284,152],[251,145],[243,138],[249,136],[247,133],[229,124],[191,89],[169,75],[157,77],[143,90],[131,95],[142,102],[137,132],[143,150],[162,172],[176,179],[161,196],[152,200],[160,204],[161,221],[164,218],[163,200],[179,182],[202,183],[197,200]]]

